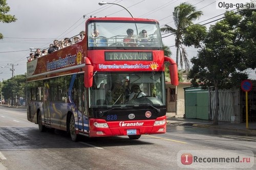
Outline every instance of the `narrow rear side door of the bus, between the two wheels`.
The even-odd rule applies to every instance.
[[[49,80],[44,81],[44,123],[45,126],[51,126]]]

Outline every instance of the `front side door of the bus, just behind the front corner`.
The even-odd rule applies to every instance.
[[[88,89],[83,85],[83,75],[78,77],[78,121],[84,133],[89,132],[89,119],[88,119]]]

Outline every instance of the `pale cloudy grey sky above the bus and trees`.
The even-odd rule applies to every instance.
[[[7,0],[10,7],[8,14],[15,15],[17,21],[0,22],[0,32],[4,35],[4,39],[0,40],[0,81],[12,77],[12,70],[9,68],[12,65],[16,75],[25,74],[31,47],[47,48],[54,39],[60,40],[79,34],[84,30],[85,21],[91,16],[130,17],[130,14],[120,6],[99,6],[98,3],[101,1]],[[216,8],[216,0],[109,0],[104,2],[120,4],[134,17],[156,19],[159,21],[160,28],[164,25],[175,28],[172,15],[174,7],[183,2],[190,3],[203,12],[203,16],[194,23],[204,24],[216,20],[223,17],[222,14],[226,11]],[[209,23],[206,27],[214,23]],[[164,36],[166,35],[162,35]],[[175,37],[171,35],[163,38],[163,43],[170,47],[172,58],[176,60],[174,40]],[[197,49],[193,47],[186,47],[186,51],[189,59],[197,55]],[[250,78],[256,80],[255,70],[250,72]]]

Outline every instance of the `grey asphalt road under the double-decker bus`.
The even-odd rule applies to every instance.
[[[0,170],[182,169],[177,160],[182,150],[249,150],[256,155],[255,143],[256,136],[172,125],[165,134],[139,140],[83,137],[73,142],[62,131],[40,133],[28,122],[26,109],[0,106]]]

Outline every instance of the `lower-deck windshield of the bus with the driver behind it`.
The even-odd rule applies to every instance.
[[[163,72],[96,72],[89,89],[90,107],[165,104]]]

